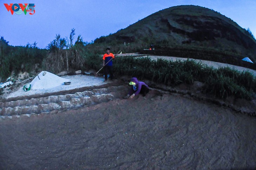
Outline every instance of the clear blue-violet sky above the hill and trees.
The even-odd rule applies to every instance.
[[[35,11],[12,15],[4,4],[34,4]],[[256,0],[0,0],[0,36],[12,46],[46,48],[56,34],[66,38],[74,28],[75,40],[81,35],[92,42],[178,5],[213,9],[256,35]]]

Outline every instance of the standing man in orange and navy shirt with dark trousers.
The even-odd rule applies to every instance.
[[[107,63],[107,65],[104,68],[104,73],[105,73],[105,80],[108,80],[108,72],[110,74],[110,80],[114,79],[113,76],[113,69],[112,69],[112,59],[115,58],[114,54],[110,53],[110,48],[106,48],[106,54],[103,55],[103,66],[105,66],[105,63]]]

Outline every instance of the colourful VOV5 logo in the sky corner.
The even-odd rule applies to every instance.
[[[33,15],[35,13],[35,4],[4,4],[7,11],[11,11],[12,15],[15,12],[16,14],[20,15],[24,12],[26,15],[29,12],[29,15]],[[33,12],[33,13],[31,13]]]

